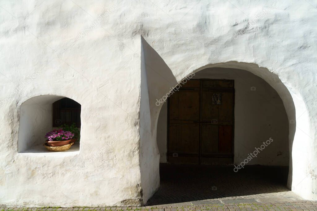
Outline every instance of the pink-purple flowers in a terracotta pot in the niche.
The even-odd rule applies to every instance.
[[[74,137],[74,133],[70,131],[64,131],[59,128],[58,130],[53,130],[49,133],[46,133],[45,138],[48,146],[64,146],[71,142],[71,139]]]

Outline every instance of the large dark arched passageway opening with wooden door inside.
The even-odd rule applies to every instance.
[[[295,131],[276,90],[234,68],[205,68],[187,79],[160,110],[161,183],[149,204],[299,197],[287,187]]]

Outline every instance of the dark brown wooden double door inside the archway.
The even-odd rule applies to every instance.
[[[169,163],[232,164],[234,80],[189,80],[168,99]]]

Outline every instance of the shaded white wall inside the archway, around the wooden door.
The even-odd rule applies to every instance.
[[[238,69],[209,68],[195,74],[192,79],[232,79],[235,81],[234,164],[247,159],[269,138],[271,142],[263,151],[248,161],[247,165],[289,164],[288,117],[277,92],[262,78]],[[256,87],[251,91],[251,87]],[[166,163],[167,152],[167,102],[159,114],[157,142],[160,162]]]

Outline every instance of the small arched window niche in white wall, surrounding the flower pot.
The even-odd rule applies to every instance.
[[[45,134],[65,125],[81,127],[81,105],[64,96],[41,95],[22,103],[17,149],[19,153],[49,152],[43,145]],[[68,151],[79,152],[77,141]],[[58,152],[58,153],[64,153]]]

